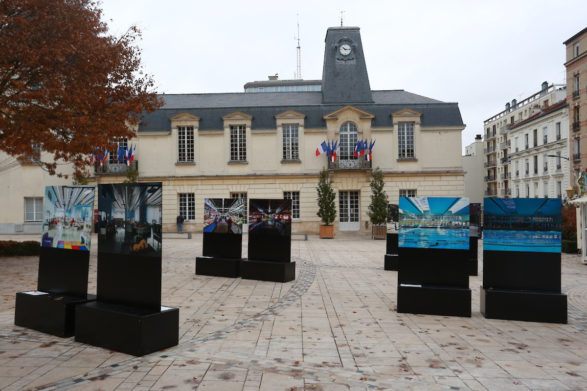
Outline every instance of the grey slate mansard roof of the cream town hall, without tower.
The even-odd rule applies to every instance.
[[[463,125],[457,103],[444,103],[404,90],[372,91],[375,103],[346,103],[375,115],[372,127],[391,127],[391,113],[410,107],[422,114],[423,126]],[[163,107],[143,118],[139,131],[170,131],[170,117],[183,111],[201,118],[200,130],[222,130],[222,116],[239,110],[253,116],[252,129],[275,129],[274,116],[286,110],[305,114],[305,128],[326,128],[322,117],[346,104],[322,103],[318,91],[281,93],[215,93],[161,95]]]

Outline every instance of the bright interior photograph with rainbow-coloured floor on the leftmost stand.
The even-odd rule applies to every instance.
[[[46,186],[41,246],[90,250],[95,186]]]

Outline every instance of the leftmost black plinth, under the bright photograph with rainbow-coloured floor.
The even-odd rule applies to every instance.
[[[14,324],[60,337],[75,335],[76,305],[96,300],[40,291],[16,294]]]

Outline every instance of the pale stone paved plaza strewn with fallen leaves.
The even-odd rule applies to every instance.
[[[15,239],[16,238],[16,239]],[[289,283],[197,276],[202,235],[163,239],[161,305],[180,308],[180,343],[134,357],[14,325],[38,257],[0,258],[0,390],[584,390],[587,265],[562,255],[568,324],[399,314],[384,240],[294,236]],[[0,240],[39,240],[0,236]],[[247,254],[247,236],[243,237]],[[97,237],[92,238],[97,243]],[[89,293],[96,293],[96,246]],[[544,308],[544,311],[548,311]]]

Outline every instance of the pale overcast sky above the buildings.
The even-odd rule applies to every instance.
[[[463,151],[505,103],[565,83],[565,40],[587,27],[587,1],[103,0],[120,34],[136,24],[157,92],[242,92],[248,81],[321,79],[326,29],[358,26],[372,90],[458,102]]]

